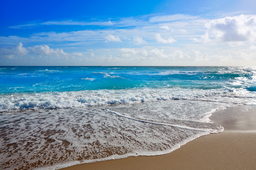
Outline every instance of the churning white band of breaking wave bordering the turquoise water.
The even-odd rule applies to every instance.
[[[237,104],[256,103],[254,93],[245,89],[232,90],[230,88],[214,90],[164,88],[9,94],[0,95],[0,112],[39,108],[55,109],[134,104],[157,100],[199,100],[200,98],[202,100],[234,102]]]

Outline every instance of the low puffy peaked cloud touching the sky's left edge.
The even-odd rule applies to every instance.
[[[11,47],[0,48],[0,55],[26,55],[28,50],[22,47],[23,44],[20,42]]]

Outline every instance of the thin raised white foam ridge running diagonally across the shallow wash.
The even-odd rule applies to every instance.
[[[217,132],[212,132],[212,131],[208,131],[208,130],[203,130],[203,129],[198,129],[198,128],[190,128],[190,127],[187,127],[187,126],[181,126],[181,125],[174,125],[174,124],[167,124],[167,123],[157,123],[157,122],[150,122],[150,121],[145,121],[145,120],[140,120],[140,119],[135,119],[135,118],[132,118],[132,117],[129,117],[129,116],[125,116],[125,115],[121,115],[117,112],[113,112],[113,111],[110,111],[108,109],[103,109],[103,110],[106,110],[110,113],[114,113],[118,116],[122,116],[122,117],[125,117],[125,118],[128,118],[128,119],[132,119],[132,120],[135,120],[135,121],[140,121],[140,122],[146,122],[146,123],[152,123],[152,124],[158,124],[158,125],[167,125],[167,126],[172,126],[172,127],[176,127],[176,128],[182,128],[182,129],[190,129],[190,130],[198,130],[198,131],[204,131],[204,132],[208,132],[208,133],[217,133]]]

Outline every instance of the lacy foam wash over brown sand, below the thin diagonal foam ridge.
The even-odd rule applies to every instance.
[[[26,169],[32,165],[34,168],[43,166],[46,169],[45,166],[51,164],[53,166],[49,169],[53,169],[128,156],[160,155],[209,133],[134,121],[102,108],[39,110],[1,115],[2,167],[10,169],[7,168],[10,159],[13,162],[11,169]],[[138,110],[144,106],[132,108]]]

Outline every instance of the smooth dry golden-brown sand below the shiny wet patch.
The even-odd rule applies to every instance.
[[[254,169],[256,132],[223,131],[198,137],[171,153],[79,164],[61,170],[82,169]],[[222,141],[222,143],[220,143]],[[246,145],[243,144],[247,143]]]

